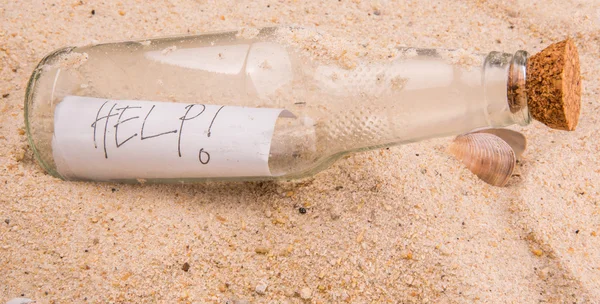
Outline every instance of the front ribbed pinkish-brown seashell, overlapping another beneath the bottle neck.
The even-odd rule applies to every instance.
[[[517,160],[507,142],[485,132],[460,135],[449,150],[481,180],[498,187],[506,185]]]

